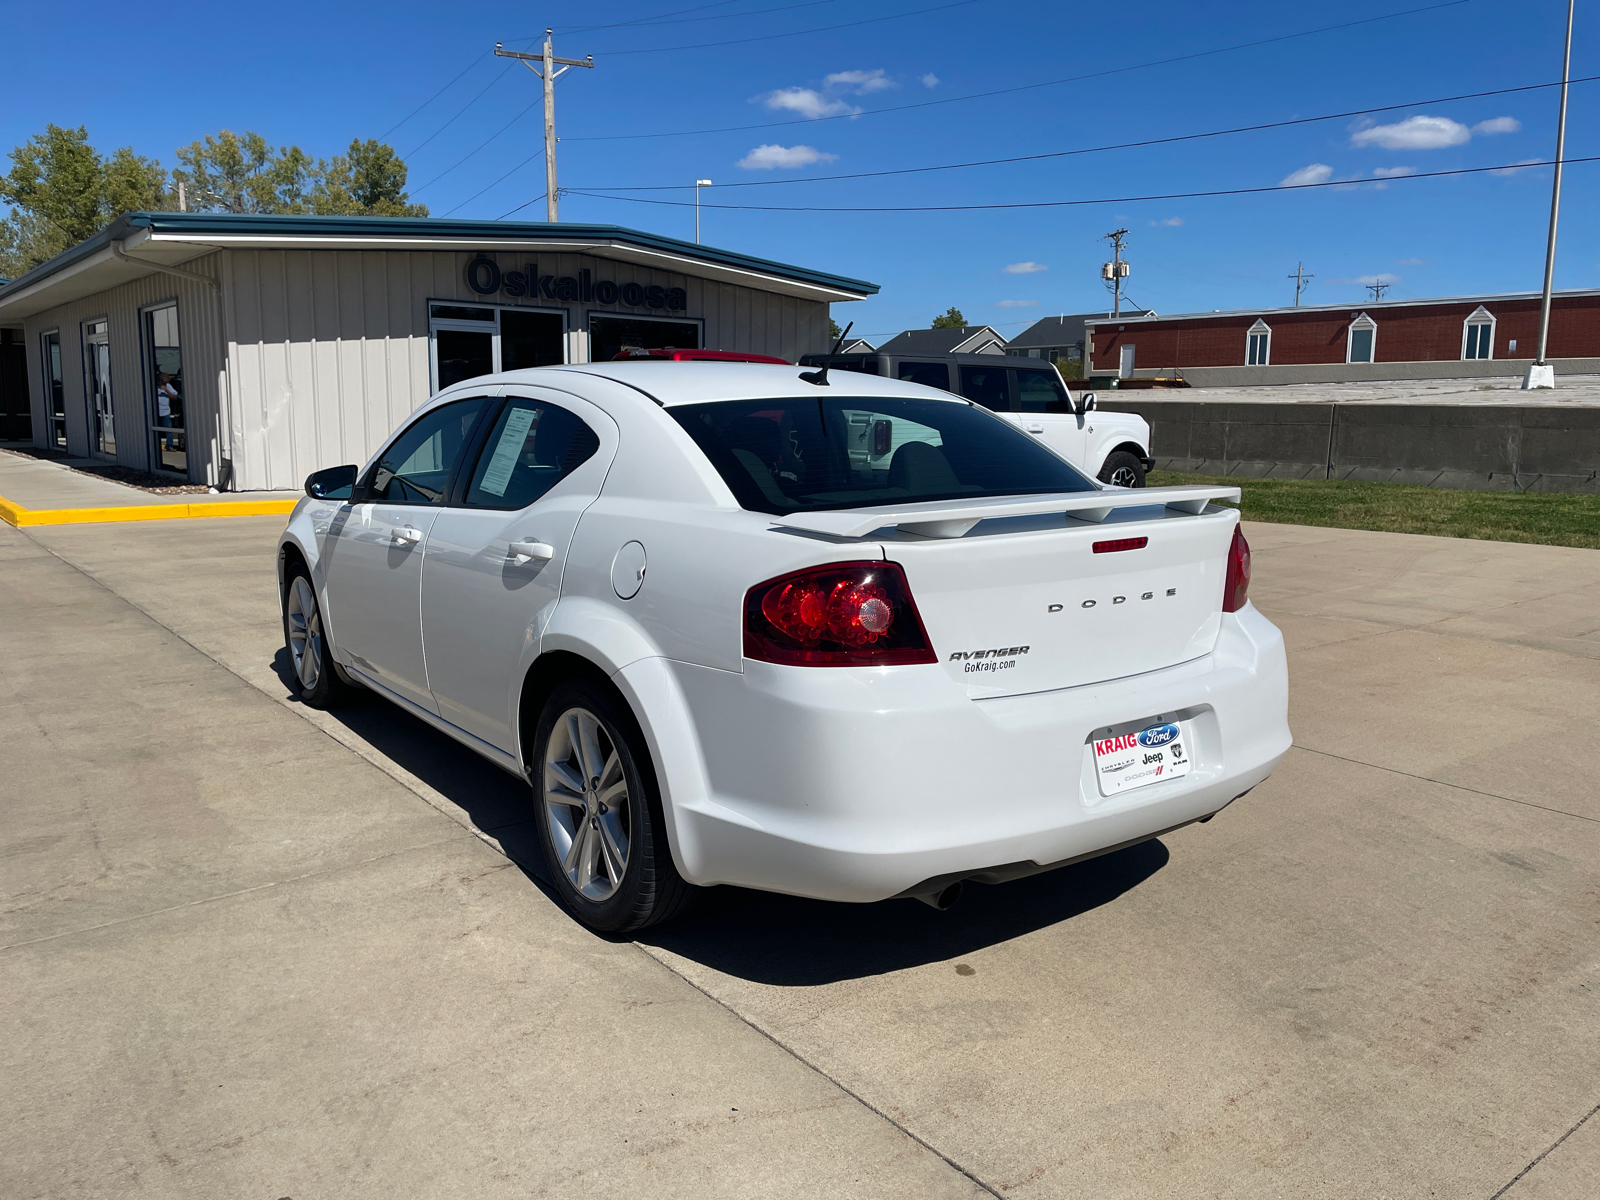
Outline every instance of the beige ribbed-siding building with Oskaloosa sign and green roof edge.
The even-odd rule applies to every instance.
[[[629,347],[797,362],[877,290],[616,226],[130,213],[0,286],[6,411],[43,448],[299,488],[461,379]]]

